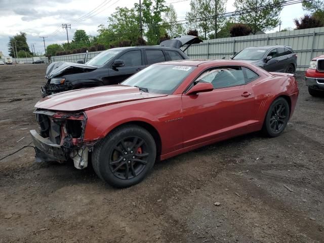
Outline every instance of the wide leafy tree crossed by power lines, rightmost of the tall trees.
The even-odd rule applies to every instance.
[[[284,0],[235,0],[236,11],[248,11],[238,16],[238,22],[250,25],[252,33],[271,30],[279,24],[279,14]],[[260,9],[267,5],[276,4],[275,7]],[[254,11],[251,11],[253,9]]]

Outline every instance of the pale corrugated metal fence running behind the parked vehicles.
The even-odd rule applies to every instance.
[[[247,35],[239,37],[208,39],[204,43],[192,45],[186,50],[191,59],[229,59],[229,57],[247,47],[290,46],[298,55],[297,70],[306,70],[313,57],[324,53],[324,27],[276,32],[269,34]],[[101,52],[101,51],[100,51]],[[89,52],[88,60],[100,52]],[[76,62],[83,60],[85,54],[72,54],[52,57],[51,61]]]

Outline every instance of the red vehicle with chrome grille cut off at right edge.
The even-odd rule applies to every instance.
[[[324,94],[324,55],[310,61],[309,68],[305,73],[305,80],[311,96]]]

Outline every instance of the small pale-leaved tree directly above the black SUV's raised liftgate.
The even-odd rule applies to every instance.
[[[163,15],[163,20],[167,34],[174,38],[177,35],[181,35],[185,32],[184,27],[181,24],[177,24],[178,16],[175,8],[170,4],[169,8]]]

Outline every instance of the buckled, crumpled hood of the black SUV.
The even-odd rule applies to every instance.
[[[46,69],[46,78],[57,77],[64,75],[64,73],[80,73],[89,72],[97,69],[96,66],[90,66],[86,64],[78,64],[73,62],[52,62]]]

